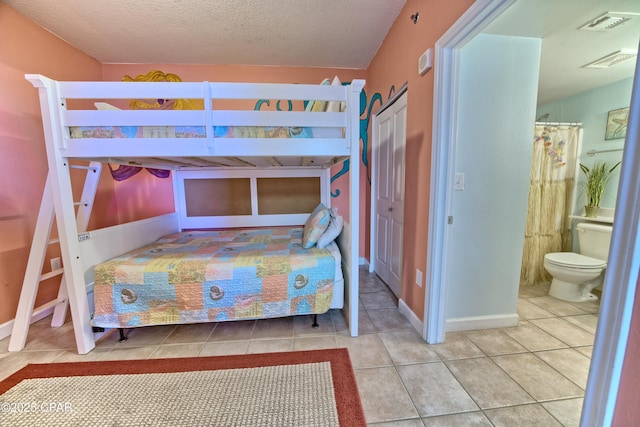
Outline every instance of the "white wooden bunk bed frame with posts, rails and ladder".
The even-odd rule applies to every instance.
[[[64,322],[67,302],[71,308],[78,353],[95,347],[90,324],[87,289],[92,286],[93,266],[121,253],[157,240],[159,237],[194,227],[180,213],[182,202],[179,181],[198,174],[217,176],[243,174],[239,166],[248,166],[244,176],[305,176],[321,178],[321,199],[330,204],[329,168],[350,159],[349,215],[338,239],[345,278],[345,315],[352,336],[358,335],[358,219],[359,219],[359,131],[360,92],[364,80],[350,85],[303,85],[261,83],[131,83],[61,82],[41,75],[25,76],[39,90],[49,174],[43,194],[38,225],[25,274],[10,351],[24,348],[33,314],[33,303],[41,280],[40,272],[48,235],[55,215],[64,272],[59,298],[54,303],[52,326]],[[72,110],[69,100],[196,99],[201,110]],[[214,109],[218,100],[320,100],[346,104],[344,112],[247,111]],[[110,138],[71,139],[71,126],[203,126],[206,138]],[[214,126],[287,126],[343,129],[342,137],[293,139],[216,138]],[[86,209],[76,214],[72,198],[69,159],[100,163],[135,164],[171,169],[176,211],[171,214],[85,232]],[[100,162],[100,163],[98,163]],[[217,175],[216,175],[217,174]],[[298,175],[296,175],[298,174]],[[315,174],[315,175],[314,175]],[[87,174],[89,181],[90,173]],[[95,174],[94,174],[95,175]],[[96,181],[95,178],[92,178]],[[97,181],[96,181],[97,182]],[[97,185],[94,183],[94,186]],[[254,188],[255,185],[252,185]],[[89,185],[91,188],[91,185]],[[254,189],[252,188],[252,198]],[[85,183],[85,192],[87,183]],[[95,187],[93,188],[95,194]],[[83,193],[85,193],[83,192]],[[88,191],[91,193],[91,191]],[[84,197],[84,194],[83,194]],[[91,198],[92,196],[90,196]],[[83,203],[87,202],[86,200]],[[89,208],[90,211],[90,208]],[[48,218],[47,218],[48,215]],[[78,215],[78,218],[76,218]],[[42,219],[41,217],[44,217]],[[202,227],[302,225],[306,215],[252,215],[242,221],[209,218]],[[227,220],[229,218],[226,218]],[[32,260],[33,259],[33,260]],[[35,279],[37,278],[37,280]],[[58,309],[61,309],[58,312]]]

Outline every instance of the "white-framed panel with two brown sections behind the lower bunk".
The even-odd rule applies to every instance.
[[[330,206],[328,169],[174,171],[182,229],[303,225]]]

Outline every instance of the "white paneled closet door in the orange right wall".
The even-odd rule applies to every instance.
[[[400,297],[407,93],[376,116],[374,271]]]

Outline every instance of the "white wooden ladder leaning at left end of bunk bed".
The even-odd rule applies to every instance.
[[[99,162],[90,162],[88,166],[72,165],[70,167],[72,169],[87,170],[81,201],[74,203],[78,206],[76,227],[78,234],[81,234],[87,231],[87,227],[89,225],[89,217],[91,215],[91,209],[93,207],[93,201],[98,187],[102,164]],[[20,351],[24,348],[27,340],[27,334],[29,332],[29,325],[34,320],[34,317],[39,316],[53,307],[51,326],[59,327],[64,324],[67,316],[69,297],[64,268],[59,268],[52,270],[49,273],[41,274],[47,254],[47,248],[49,245],[59,243],[60,241],[59,239],[51,239],[51,228],[55,217],[52,192],[51,175],[47,174],[47,181],[44,186],[42,201],[40,203],[36,229],[31,243],[29,259],[27,261],[27,270],[22,283],[18,310],[16,312],[13,331],[9,341],[9,351]],[[34,308],[40,283],[57,276],[60,276],[58,296],[54,300],[45,303],[38,308]]]

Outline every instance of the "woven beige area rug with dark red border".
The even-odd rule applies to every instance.
[[[346,349],[27,365],[8,426],[365,426]]]

